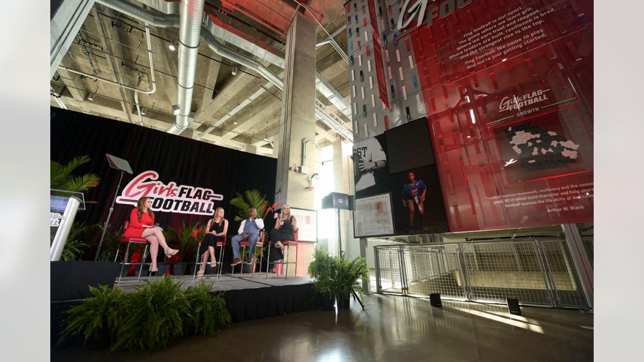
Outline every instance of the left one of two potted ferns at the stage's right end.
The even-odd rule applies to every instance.
[[[334,258],[321,248],[313,252],[313,261],[308,264],[308,275],[314,278],[314,291],[321,297],[322,309],[332,310],[336,299]]]

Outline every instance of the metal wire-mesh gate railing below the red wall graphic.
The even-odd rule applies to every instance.
[[[591,249],[592,250],[592,249]],[[588,307],[564,240],[374,247],[377,292],[524,305]]]

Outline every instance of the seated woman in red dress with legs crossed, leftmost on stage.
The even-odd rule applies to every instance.
[[[166,238],[163,236],[160,227],[155,226],[155,213],[152,209],[152,199],[142,197],[138,199],[137,208],[129,214],[129,226],[123,234],[126,238],[146,238],[150,243],[150,256],[152,265],[150,272],[158,271],[156,267],[156,254],[158,254],[159,245],[163,248],[166,256],[169,258],[176,254],[178,250],[170,249],[167,246]]]

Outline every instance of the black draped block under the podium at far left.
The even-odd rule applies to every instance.
[[[107,285],[110,289],[120,271],[117,262],[50,262],[52,301],[77,300],[93,296],[91,287]]]

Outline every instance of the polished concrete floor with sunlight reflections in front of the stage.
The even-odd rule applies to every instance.
[[[158,352],[127,354],[80,347],[52,361],[592,361],[592,314],[579,310],[372,294],[366,309],[315,310],[234,323],[214,338],[175,341]]]

